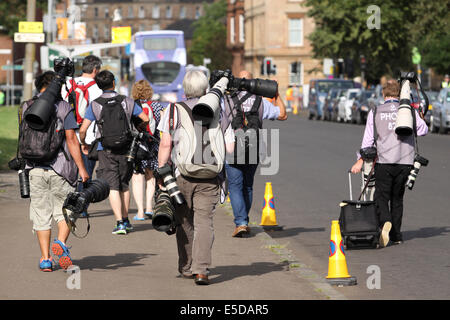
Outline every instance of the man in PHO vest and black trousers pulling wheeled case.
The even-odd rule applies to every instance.
[[[386,247],[391,240],[402,243],[400,228],[403,217],[403,196],[408,175],[414,162],[414,134],[399,136],[395,133],[395,124],[399,107],[400,85],[388,80],[382,87],[384,104],[375,107],[367,115],[367,123],[361,149],[376,147],[375,195],[381,235],[380,246]],[[375,112],[375,118],[374,118]],[[422,115],[416,110],[416,132],[418,136],[428,133],[428,127]],[[375,119],[375,120],[374,120]],[[374,122],[375,121],[375,122]],[[361,172],[363,159],[352,166],[352,173]]]

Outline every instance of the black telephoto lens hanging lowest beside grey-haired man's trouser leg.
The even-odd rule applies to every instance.
[[[168,232],[175,226],[175,208],[166,191],[160,190],[156,197],[152,225],[157,231]]]

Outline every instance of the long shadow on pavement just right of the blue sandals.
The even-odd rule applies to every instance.
[[[81,270],[117,270],[125,267],[142,266],[138,263],[140,260],[150,256],[156,256],[152,253],[117,253],[114,256],[91,256],[84,257],[81,260],[73,260],[73,264],[80,267]]]

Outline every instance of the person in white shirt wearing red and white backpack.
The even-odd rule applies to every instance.
[[[100,97],[103,91],[100,90],[95,82],[95,76],[100,72],[102,66],[102,60],[94,55],[89,55],[83,59],[82,62],[82,74],[80,77],[71,79],[66,82],[66,86],[62,87],[62,96],[64,100],[71,103],[74,107],[77,124],[81,126],[83,122],[84,114],[88,105]],[[66,88],[67,87],[67,88]],[[82,145],[81,156],[83,157],[84,166],[92,178],[94,172],[95,160],[88,158],[89,145],[95,140],[94,134],[95,121],[93,121],[86,134],[86,145]],[[79,136],[78,130],[76,130],[77,136]],[[79,190],[83,189],[83,185],[79,185]],[[86,208],[87,209],[87,208]],[[87,212],[83,212],[82,216],[85,216]]]

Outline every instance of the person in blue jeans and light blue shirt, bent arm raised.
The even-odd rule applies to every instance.
[[[239,77],[251,79],[252,75],[244,70],[241,71]],[[232,236],[242,237],[244,234],[250,233],[248,214],[253,201],[253,181],[260,151],[258,132],[262,129],[264,119],[283,121],[287,119],[287,114],[284,102],[279,95],[275,97],[275,105],[246,91],[226,95],[224,102],[222,111],[230,122],[227,132],[232,130],[236,133],[237,130],[244,130],[246,134],[247,130],[254,130],[257,136],[257,141],[254,142],[256,146],[253,145],[250,149],[246,148],[245,155],[242,154],[244,150],[241,150],[240,147],[242,144],[234,140],[234,136],[238,137],[242,134],[234,134],[232,143],[226,145],[227,152],[234,155],[233,163],[225,163],[230,202],[236,225]],[[252,157],[251,153],[256,154],[256,157]],[[238,159],[238,156],[244,157],[245,160]]]

